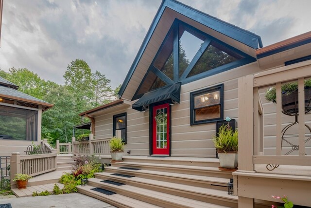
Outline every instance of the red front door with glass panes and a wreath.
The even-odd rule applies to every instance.
[[[168,103],[153,107],[153,154],[170,154],[170,106]]]

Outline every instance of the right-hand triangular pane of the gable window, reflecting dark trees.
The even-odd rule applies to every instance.
[[[212,41],[187,77],[201,74],[242,58],[244,57]]]

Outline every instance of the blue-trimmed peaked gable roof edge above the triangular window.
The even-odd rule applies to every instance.
[[[163,22],[164,21],[163,19],[166,19],[166,18],[170,19],[170,21]],[[209,33],[211,36],[214,36],[214,37],[216,36],[222,41],[224,41],[223,39],[225,38],[229,38],[235,44],[242,44],[240,50],[245,53],[247,52],[250,53],[250,51],[252,51],[251,55],[253,57],[256,57],[255,49],[262,47],[261,38],[254,33],[251,33],[247,30],[239,28],[233,24],[227,23],[221,19],[212,17],[206,13],[196,10],[176,0],[163,0],[155,15],[155,18],[153,19],[151,23],[151,26],[147,32],[147,35],[145,36],[138,50],[138,54],[135,57],[128,74],[126,75],[124,82],[121,85],[121,88],[119,91],[120,98],[131,99],[129,95],[124,96],[124,97],[122,95],[124,94],[136,69],[139,68],[138,64],[143,59],[144,53],[149,50],[148,47],[153,47],[153,48],[158,49],[159,45],[161,45],[164,38],[159,37],[157,34],[162,33],[162,36],[164,34],[164,37],[165,37],[166,33],[168,32],[167,28],[171,27],[174,19],[179,19],[179,18],[180,19],[186,18],[187,20],[191,22],[192,26],[194,27],[203,26],[205,29],[209,31],[207,33]],[[164,30],[163,28],[159,29],[159,27],[163,27]],[[161,31],[157,32],[159,30]],[[148,58],[150,59],[150,56]],[[151,57],[151,59],[153,59],[153,57]],[[143,63],[143,64],[148,65],[149,62]],[[139,72],[140,74],[145,74],[146,72],[146,69],[139,69],[139,70],[140,70]],[[138,78],[136,79],[138,80]]]

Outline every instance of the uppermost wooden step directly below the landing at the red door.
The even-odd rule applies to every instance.
[[[219,178],[233,178],[232,172],[222,171],[215,167],[202,166],[184,166],[184,165],[169,165],[169,164],[154,164],[154,163],[134,163],[134,162],[120,162],[112,163],[112,167],[128,167],[138,168],[143,170],[157,170],[163,172],[174,172],[190,175],[202,175]]]

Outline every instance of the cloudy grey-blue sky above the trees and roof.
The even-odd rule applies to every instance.
[[[261,36],[263,45],[311,31],[311,0],[180,0]],[[0,69],[27,68],[64,84],[67,65],[123,82],[161,0],[4,0]]]

